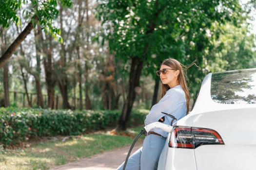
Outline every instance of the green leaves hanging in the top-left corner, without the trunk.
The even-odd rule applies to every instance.
[[[37,21],[41,28],[51,34],[59,42],[62,42],[60,37],[60,29],[54,26],[54,20],[59,15],[59,7],[71,7],[71,0],[0,0],[0,26],[8,28],[11,22],[18,25],[21,24],[20,17],[17,14],[18,9],[22,10],[21,14],[31,20],[34,25]],[[27,5],[27,8],[21,8],[21,4]]]

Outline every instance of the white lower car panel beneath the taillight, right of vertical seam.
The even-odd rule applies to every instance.
[[[256,170],[256,145],[204,145],[195,157],[197,170]]]

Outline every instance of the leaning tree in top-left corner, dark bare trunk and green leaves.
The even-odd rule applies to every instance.
[[[30,21],[14,42],[2,53],[0,57],[0,68],[9,60],[38,22],[43,30],[50,33],[56,39],[59,38],[61,42],[59,29],[55,28],[52,23],[58,16],[57,4],[61,3],[70,7],[72,5],[71,0],[1,0],[0,3],[0,26],[3,28],[8,28],[12,22],[20,24],[20,17],[17,15],[17,10],[22,7],[21,4],[30,5],[30,8],[24,10],[25,17],[29,18]]]

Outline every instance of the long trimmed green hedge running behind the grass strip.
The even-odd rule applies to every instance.
[[[148,110],[134,110],[129,125],[144,123]],[[0,108],[0,144],[3,147],[33,136],[79,135],[117,125],[120,111]]]

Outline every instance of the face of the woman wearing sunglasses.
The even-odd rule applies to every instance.
[[[161,65],[160,70],[163,70],[163,69],[166,69],[167,72],[165,74],[161,72],[160,74],[160,79],[162,81],[162,84],[169,85],[170,88],[178,85],[179,70],[175,70],[174,68],[166,65]]]

